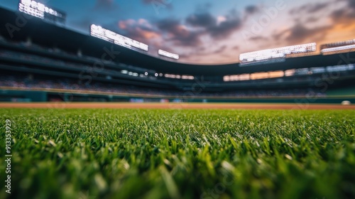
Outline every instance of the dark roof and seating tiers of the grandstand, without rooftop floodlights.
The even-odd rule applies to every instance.
[[[53,100],[58,98],[53,97],[53,92],[58,92],[55,89],[96,91],[105,96],[97,100],[129,101],[131,96],[145,98],[146,102],[159,101],[159,97],[182,102],[200,102],[209,98],[210,102],[219,102],[219,99],[223,102],[223,99],[245,97],[289,100],[314,93],[317,99],[327,99],[332,98],[329,93],[344,87],[349,87],[347,91],[351,92],[342,95],[354,96],[355,93],[355,61],[351,59],[355,52],[305,53],[283,62],[271,60],[247,66],[241,63],[191,65],[155,58],[38,18],[26,18],[29,17],[18,11],[0,11],[1,26],[9,22],[26,23],[20,31],[13,29],[9,32],[1,28],[0,32],[0,86],[10,89],[9,93],[15,92],[11,91],[13,88],[36,92],[44,89],[48,97],[43,99]],[[37,31],[39,28],[41,31]],[[104,59],[103,54],[106,54]],[[280,72],[282,75],[272,76]],[[53,90],[48,91],[50,89]],[[6,95],[11,96],[3,92],[2,99],[11,99]],[[111,95],[114,95],[112,99],[108,97]],[[343,98],[354,100],[349,96]],[[342,100],[342,97],[336,98],[336,102]],[[77,100],[87,101],[88,97]]]

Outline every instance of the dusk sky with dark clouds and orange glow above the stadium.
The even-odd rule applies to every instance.
[[[94,23],[179,62],[239,62],[253,50],[355,38],[355,0],[44,0],[67,13],[66,27],[89,34]],[[18,1],[1,0],[16,10]]]

